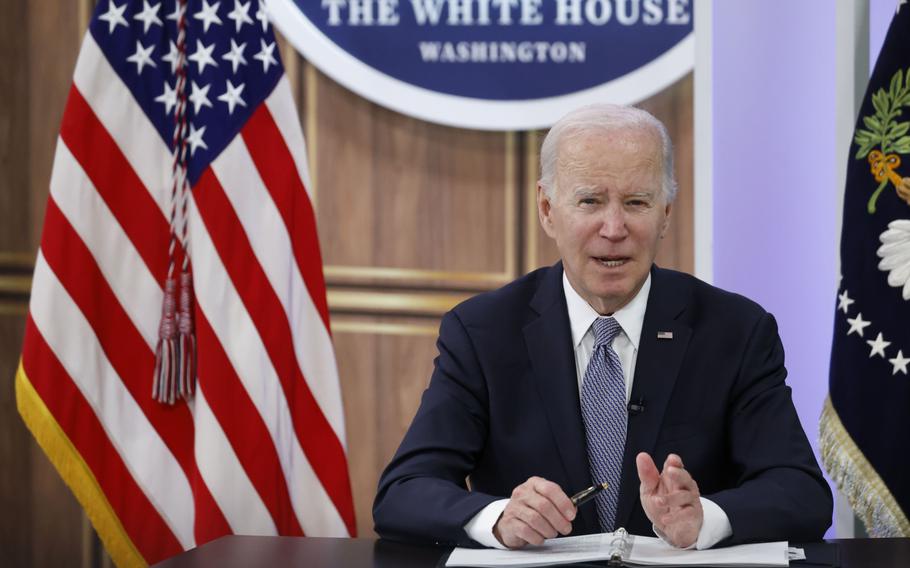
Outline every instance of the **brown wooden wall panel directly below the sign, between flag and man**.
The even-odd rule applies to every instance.
[[[483,289],[513,278],[515,135],[405,117],[313,75],[307,142],[330,282]]]

